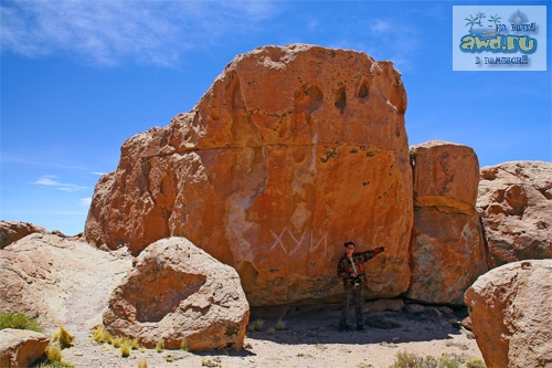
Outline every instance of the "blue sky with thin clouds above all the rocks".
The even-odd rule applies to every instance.
[[[454,72],[453,6],[544,4],[545,72]],[[391,60],[411,145],[552,160],[550,1],[1,0],[0,219],[84,230],[121,144],[190,111],[237,54],[311,43]]]

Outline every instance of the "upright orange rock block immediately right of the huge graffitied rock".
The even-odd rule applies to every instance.
[[[463,304],[487,272],[476,212],[479,164],[467,146],[429,141],[411,147],[414,174],[412,278],[406,296],[432,304]]]

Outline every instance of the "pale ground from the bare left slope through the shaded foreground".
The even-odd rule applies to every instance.
[[[3,252],[6,259],[12,260],[11,267],[29,277],[26,298],[20,302],[28,307],[38,305],[38,301],[50,305],[44,318],[39,319],[45,333],[56,332],[60,324],[75,336],[74,346],[62,351],[63,361],[75,367],[138,367],[140,361],[148,367],[389,367],[400,351],[422,357],[456,354],[464,359],[482,358],[476,341],[456,323],[467,316],[466,309],[420,305],[401,308],[402,304],[394,308],[400,313],[367,313],[365,332],[347,333],[337,329],[340,312],[336,306],[277,314],[285,315],[283,329],[276,328],[278,317],[253,311],[250,327],[259,328],[247,332],[243,350],[137,349],[124,358],[120,349],[93,341],[92,330],[102,323],[109,296],[131,267],[132,257],[125,251],[103,252],[79,241],[47,234],[30,235]],[[23,272],[28,263],[15,262],[23,254],[33,262],[33,277],[29,270]],[[18,285],[13,287],[22,287]],[[23,307],[17,305],[33,315],[32,309]]]

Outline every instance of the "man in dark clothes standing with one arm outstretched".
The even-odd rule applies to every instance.
[[[347,324],[347,309],[351,297],[354,295],[354,313],[357,315],[357,330],[364,330],[362,320],[362,305],[364,303],[363,288],[368,284],[364,273],[364,263],[384,251],[383,246],[378,249],[354,252],[354,243],[344,243],[346,254],[339,260],[338,275],[343,280],[343,299],[341,302],[341,318],[339,319],[339,330],[350,329]]]

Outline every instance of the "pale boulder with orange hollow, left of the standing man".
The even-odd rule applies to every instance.
[[[149,245],[118,286],[104,314],[113,335],[152,348],[242,348],[250,318],[240,276],[184,238]]]

